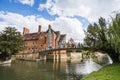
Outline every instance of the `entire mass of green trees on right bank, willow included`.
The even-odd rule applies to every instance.
[[[86,31],[85,43],[89,48],[110,54],[113,60],[120,61],[120,14],[106,26],[106,20],[98,19],[98,24],[90,24]]]

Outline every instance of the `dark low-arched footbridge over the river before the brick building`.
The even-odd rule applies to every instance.
[[[67,52],[81,52],[81,48],[54,48],[54,49],[41,50],[39,54],[47,54],[47,53],[52,53],[54,51],[62,51],[62,50],[65,50]]]

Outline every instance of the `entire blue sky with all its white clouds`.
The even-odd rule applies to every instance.
[[[0,0],[0,31],[15,27],[22,33],[42,31],[50,24],[55,31],[83,42],[84,30],[99,17],[109,19],[120,11],[120,0]]]

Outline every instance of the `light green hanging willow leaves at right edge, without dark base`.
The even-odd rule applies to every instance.
[[[108,32],[108,42],[115,52],[120,53],[120,14],[112,20],[110,29]]]

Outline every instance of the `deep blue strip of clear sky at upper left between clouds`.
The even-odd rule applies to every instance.
[[[46,0],[35,0],[34,5],[30,6],[29,4],[22,4],[19,0],[0,0],[0,10],[18,13],[24,16],[27,15],[40,15],[49,20],[55,19],[55,16],[48,14],[46,10],[39,11],[37,8],[39,4],[46,3]]]

